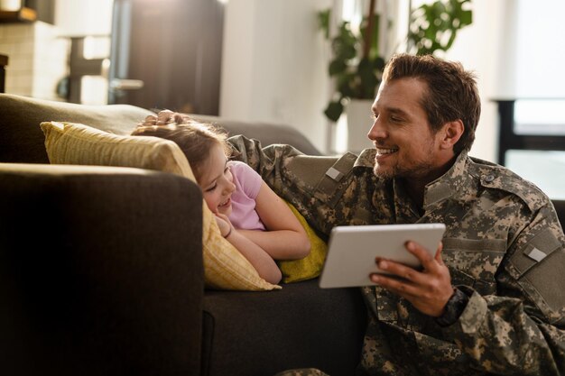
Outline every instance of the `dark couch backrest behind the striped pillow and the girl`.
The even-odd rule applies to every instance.
[[[93,126],[116,134],[129,134],[151,111],[134,105],[78,105],[0,94],[0,162],[49,163],[42,122],[69,122]],[[264,146],[288,143],[305,154],[320,151],[304,135],[288,125],[236,122],[218,116],[193,115],[218,124],[231,135],[245,134]]]

